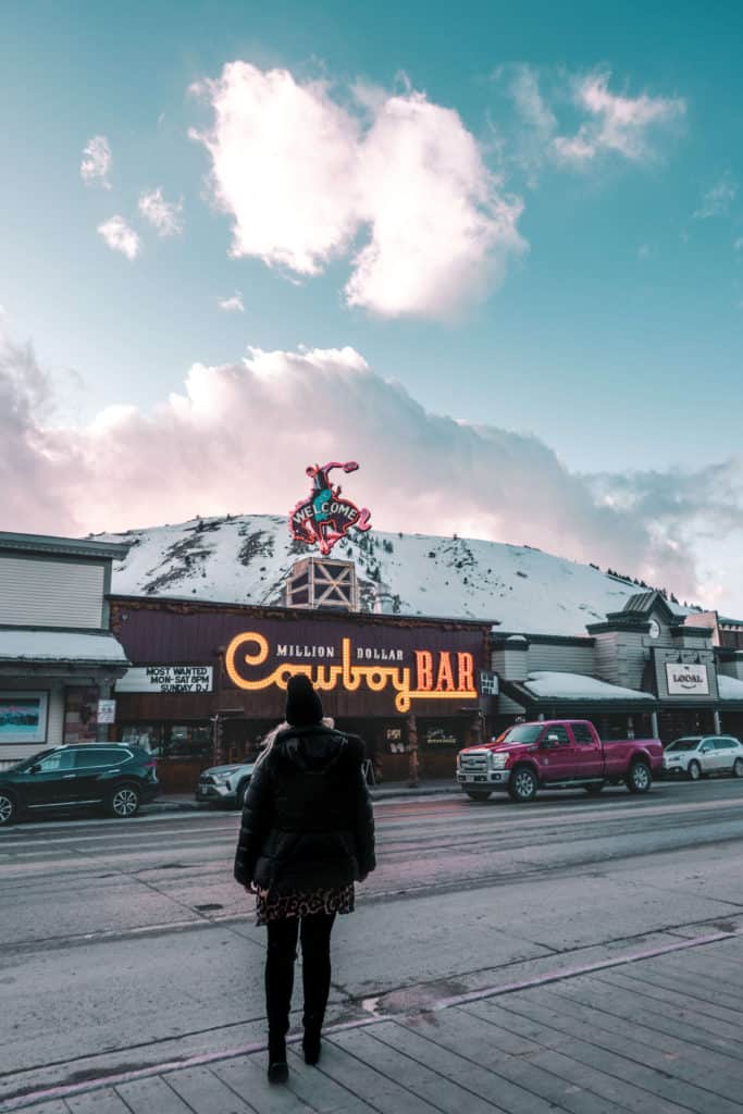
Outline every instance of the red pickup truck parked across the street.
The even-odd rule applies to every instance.
[[[493,743],[467,746],[457,755],[457,781],[473,801],[506,790],[514,801],[531,801],[538,789],[585,789],[624,783],[646,793],[663,766],[659,739],[602,742],[588,720],[519,723]]]

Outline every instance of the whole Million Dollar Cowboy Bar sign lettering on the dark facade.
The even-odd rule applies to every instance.
[[[302,673],[321,693],[388,693],[397,712],[410,712],[420,701],[477,700],[471,649],[421,648],[409,635],[401,631],[395,639],[388,632],[387,645],[370,644],[361,631],[332,642],[272,644],[258,631],[246,631],[229,643],[225,670],[246,692],[285,690],[289,678]]]

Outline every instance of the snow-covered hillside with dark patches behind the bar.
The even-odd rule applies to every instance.
[[[293,563],[310,553],[274,515],[206,518],[126,534],[126,560],[113,592],[243,604],[283,604]],[[575,635],[620,610],[636,585],[528,546],[371,531],[344,540],[333,557],[354,560],[362,606],[378,580],[405,615],[489,619],[504,631]]]

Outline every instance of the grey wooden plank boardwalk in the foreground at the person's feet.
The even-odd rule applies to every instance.
[[[743,937],[331,1030],[316,1068],[265,1052],[87,1084],[33,1114],[742,1114]]]

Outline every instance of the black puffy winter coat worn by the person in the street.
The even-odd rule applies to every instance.
[[[287,727],[245,795],[235,878],[272,895],[348,886],[374,869],[374,818],[354,735]]]

